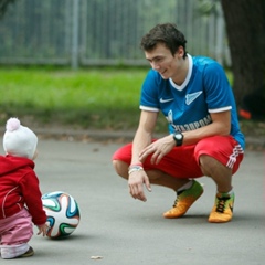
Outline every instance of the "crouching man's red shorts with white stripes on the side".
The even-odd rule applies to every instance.
[[[160,170],[176,178],[199,178],[202,172],[199,166],[201,155],[215,158],[235,173],[244,157],[244,150],[232,136],[213,136],[200,140],[195,145],[174,147],[158,165],[150,162],[148,156],[144,162],[145,170]],[[131,144],[119,148],[113,160],[131,161]]]

